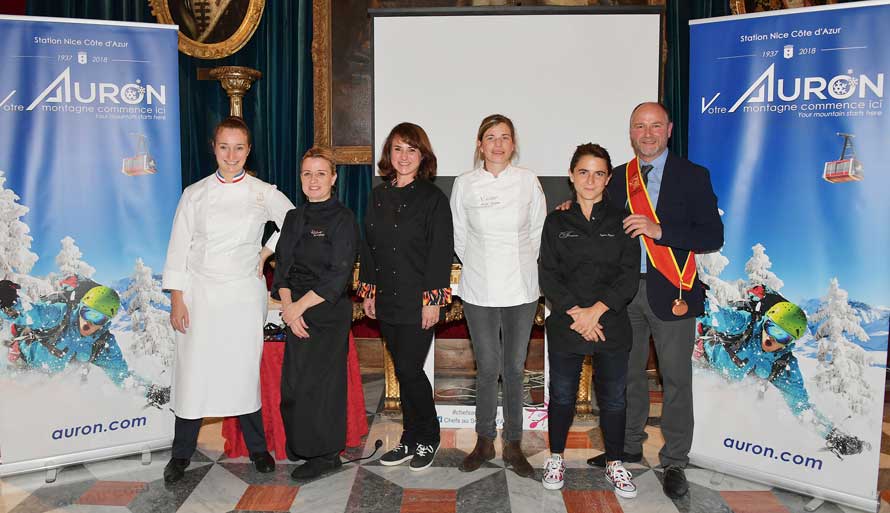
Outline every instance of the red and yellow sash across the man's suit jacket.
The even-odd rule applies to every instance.
[[[634,157],[627,163],[627,202],[630,205],[630,211],[633,214],[643,214],[652,219],[656,223],[660,223],[658,215],[655,213],[655,207],[652,206],[652,200],[649,198],[649,191],[643,184],[643,176],[640,174],[640,165],[637,158]],[[695,280],[695,254],[690,251],[686,256],[686,263],[683,264],[683,270],[680,271],[680,265],[677,263],[677,257],[674,252],[667,246],[660,246],[651,238],[641,235],[643,244],[646,246],[646,254],[649,255],[649,263],[668,279],[675,287],[682,290],[691,290],[692,282]]]

